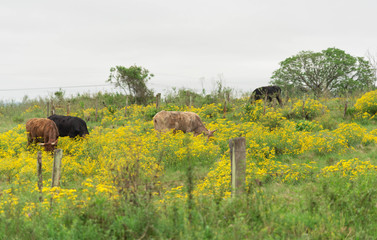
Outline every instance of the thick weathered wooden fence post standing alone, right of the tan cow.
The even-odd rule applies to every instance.
[[[246,139],[243,137],[229,140],[232,169],[232,197],[245,191],[246,176]]]

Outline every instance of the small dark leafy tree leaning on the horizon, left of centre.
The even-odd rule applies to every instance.
[[[148,98],[153,97],[153,91],[146,85],[153,76],[147,69],[136,65],[129,68],[116,66],[110,69],[107,82],[133,96],[136,103],[145,104]]]

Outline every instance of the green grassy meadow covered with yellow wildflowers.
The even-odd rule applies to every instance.
[[[169,101],[168,101],[169,100]],[[375,239],[377,92],[276,103],[178,96],[125,107],[121,94],[54,99],[90,135],[27,148],[46,101],[0,104],[0,239]],[[215,136],[158,134],[160,110],[198,113]],[[245,194],[231,198],[229,139],[246,138]],[[37,152],[43,188],[38,189]]]

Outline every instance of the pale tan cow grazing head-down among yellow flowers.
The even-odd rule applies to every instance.
[[[204,133],[208,138],[216,131],[208,130],[198,114],[193,112],[161,111],[153,117],[153,124],[154,129],[159,132],[174,129],[184,133],[192,132],[194,136]]]

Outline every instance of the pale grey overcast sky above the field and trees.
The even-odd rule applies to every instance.
[[[110,68],[134,64],[155,92],[219,79],[252,91],[303,50],[377,56],[376,12],[376,0],[1,1],[0,101],[110,91]]]

